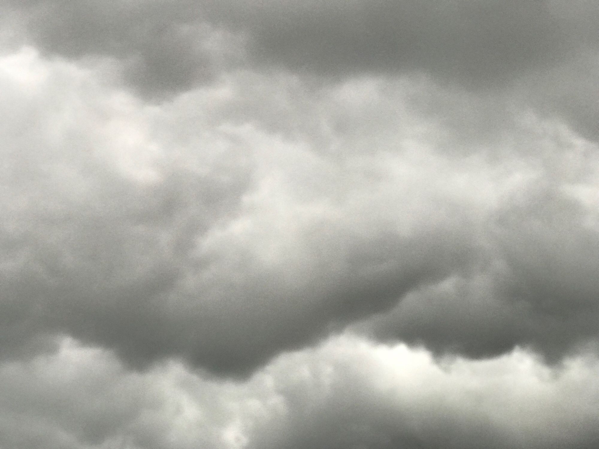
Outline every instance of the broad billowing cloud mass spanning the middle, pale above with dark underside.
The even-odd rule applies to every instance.
[[[595,188],[597,163],[565,128],[512,114],[525,148],[507,122],[447,151],[466,136],[428,114],[444,91],[420,81],[301,95],[282,80],[273,122],[237,95],[266,89],[246,74],[156,107],[34,50],[2,68],[5,356],[67,333],[138,368],[247,375],[379,313],[373,335],[476,357],[597,339],[599,236],[572,193]],[[310,139],[292,124],[311,107]]]

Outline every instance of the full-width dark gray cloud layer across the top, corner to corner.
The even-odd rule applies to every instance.
[[[21,42],[54,56],[108,59],[128,87],[152,100],[239,68],[282,70],[321,85],[424,74],[466,95],[519,98],[592,139],[598,14],[585,0],[37,0],[4,7]],[[491,102],[484,115],[501,116],[501,107]]]

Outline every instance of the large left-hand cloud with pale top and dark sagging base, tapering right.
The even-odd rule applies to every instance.
[[[443,199],[426,195],[387,210],[393,174],[371,184],[360,164],[336,166],[244,128],[217,131],[203,116],[189,120],[184,103],[102,104],[105,90],[89,74],[59,62],[36,68],[32,52],[4,62],[34,66],[22,78],[31,84],[10,69],[5,80],[7,98],[31,95],[10,119],[6,111],[17,132],[4,154],[5,357],[66,333],[137,368],[180,357],[249,374],[471,263],[476,243],[461,205],[444,205],[440,219],[431,208]],[[73,90],[99,103],[81,104]],[[50,114],[35,109],[46,101],[56,105]],[[204,138],[188,140],[198,127]],[[362,186],[347,184],[349,173]],[[410,178],[399,181],[389,205],[416,193]],[[383,203],[370,204],[376,198]]]

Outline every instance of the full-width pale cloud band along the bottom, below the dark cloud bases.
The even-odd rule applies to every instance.
[[[279,357],[241,383],[177,363],[144,374],[66,339],[5,363],[5,447],[591,448],[597,360],[558,371],[517,350],[438,365],[426,351],[349,336]]]

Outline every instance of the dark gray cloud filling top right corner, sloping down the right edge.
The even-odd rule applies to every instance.
[[[597,138],[599,17],[586,1],[219,1],[205,11],[246,37],[253,66],[335,81],[425,74],[462,95],[525,99]],[[483,116],[500,111],[489,102]]]

